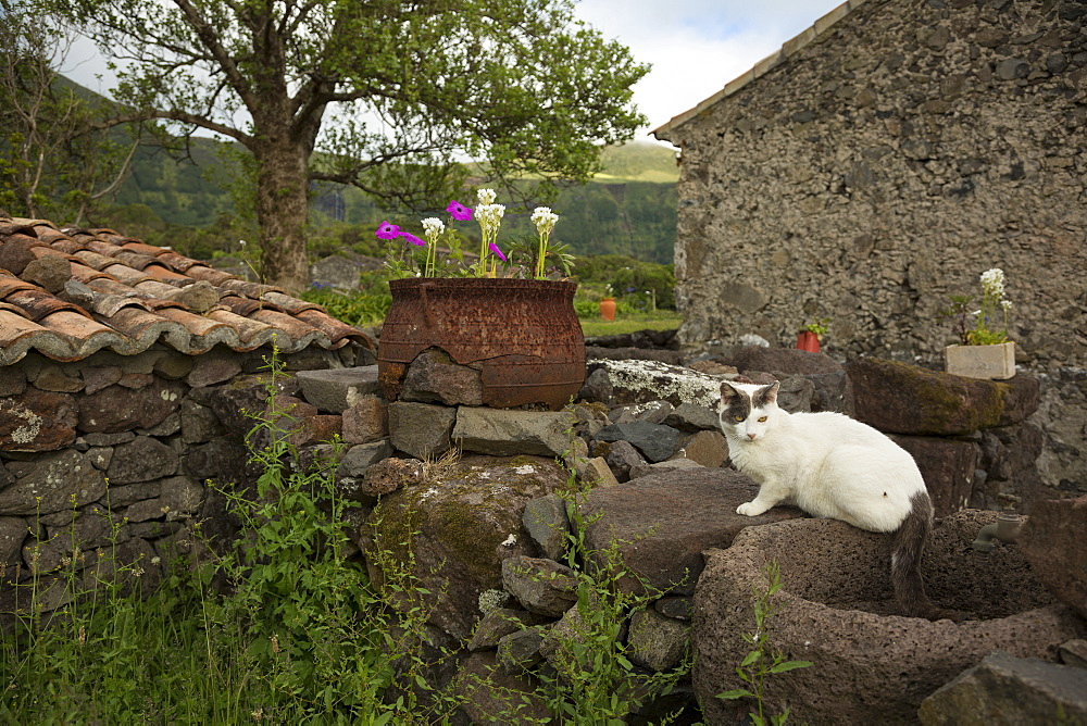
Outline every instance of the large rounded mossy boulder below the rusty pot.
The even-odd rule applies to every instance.
[[[540,456],[465,456],[438,477],[384,497],[366,523],[371,578],[396,606],[433,609],[430,623],[466,638],[482,616],[480,593],[502,587],[502,561],[539,555],[521,522],[525,504],[569,479]],[[410,573],[408,597],[395,591],[390,566]],[[429,594],[411,602],[420,588]]]

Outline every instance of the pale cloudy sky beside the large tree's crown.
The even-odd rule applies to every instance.
[[[844,0],[579,0],[577,16],[627,46],[652,70],[634,90],[649,124],[636,139],[724,88]],[[89,42],[77,43],[64,72],[100,93],[104,64]]]

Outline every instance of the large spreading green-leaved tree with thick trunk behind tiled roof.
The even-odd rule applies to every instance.
[[[202,127],[255,162],[265,277],[308,281],[309,183],[417,206],[463,180],[585,180],[644,118],[648,71],[573,0],[40,0],[118,61],[139,117]],[[316,153],[315,153],[316,152]]]

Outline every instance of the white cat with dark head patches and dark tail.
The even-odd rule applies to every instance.
[[[783,411],[777,405],[779,387],[721,385],[717,412],[729,456],[759,483],[759,495],[736,512],[758,516],[776,504],[795,504],[817,517],[895,533],[896,598],[910,615],[940,616],[921,579],[933,505],[913,456],[840,413]]]

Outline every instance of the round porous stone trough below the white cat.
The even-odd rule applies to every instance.
[[[941,522],[925,555],[928,593],[960,622],[895,614],[890,538],[830,520],[791,520],[740,533],[727,550],[707,553],[695,594],[695,690],[707,723],[735,723],[751,704],[717,693],[744,687],[735,667],[751,649],[752,603],[765,589],[766,563],[780,567],[782,608],[770,624],[770,650],[812,661],[771,676],[771,713],[786,705],[802,723],[917,723],[921,702],[992,651],[1054,660],[1087,625],[1055,604],[1016,544],[988,553],[971,543],[996,512],[965,510]]]

